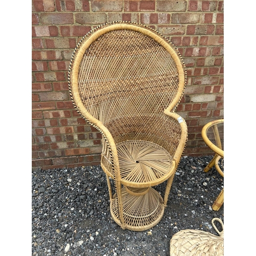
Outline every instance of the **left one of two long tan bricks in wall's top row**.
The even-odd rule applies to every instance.
[[[91,7],[93,12],[121,12],[123,8],[122,0],[93,0],[91,1]]]

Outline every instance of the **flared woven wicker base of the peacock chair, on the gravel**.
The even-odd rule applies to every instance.
[[[143,231],[154,227],[163,217],[164,205],[160,194],[152,187],[142,196],[134,196],[123,187],[122,206],[124,228]],[[121,226],[116,194],[110,204],[111,216]]]

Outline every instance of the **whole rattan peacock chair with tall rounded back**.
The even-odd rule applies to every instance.
[[[174,113],[185,83],[177,48],[141,24],[103,24],[74,50],[71,99],[102,135],[111,216],[123,229],[146,230],[163,216],[187,140],[186,123]],[[153,186],[164,181],[162,198]]]

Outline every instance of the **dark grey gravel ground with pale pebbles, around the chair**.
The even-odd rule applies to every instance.
[[[212,156],[183,157],[162,220],[146,231],[122,230],[111,218],[108,185],[100,165],[32,172],[32,255],[169,255],[173,234],[199,229],[218,236],[224,204],[212,203],[223,188]],[[155,189],[164,195],[165,182]],[[216,226],[221,231],[221,226]]]

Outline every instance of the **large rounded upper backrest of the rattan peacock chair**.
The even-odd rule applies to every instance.
[[[72,98],[104,125],[123,117],[162,115],[179,103],[186,81],[182,58],[149,27],[116,22],[84,36],[73,55]],[[77,72],[77,73],[76,73]]]

